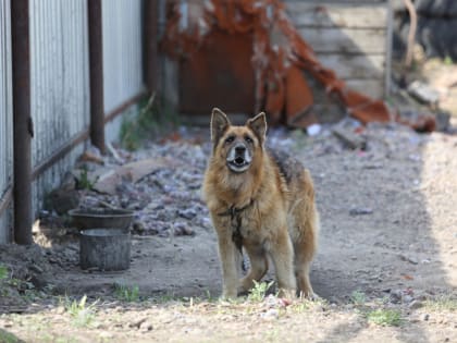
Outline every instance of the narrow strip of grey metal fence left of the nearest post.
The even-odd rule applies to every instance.
[[[10,13],[10,0],[0,0],[0,243],[10,240],[12,217],[11,205],[5,203],[13,179]]]

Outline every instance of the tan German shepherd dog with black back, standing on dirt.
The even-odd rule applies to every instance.
[[[222,297],[247,293],[274,265],[280,296],[314,297],[309,280],[319,213],[307,169],[265,148],[263,112],[244,126],[220,109],[211,114],[212,155],[202,195],[218,235]],[[239,278],[243,249],[250,269]]]

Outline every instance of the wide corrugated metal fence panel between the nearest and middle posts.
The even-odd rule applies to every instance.
[[[32,166],[36,168],[89,125],[86,0],[30,0]],[[34,182],[36,213],[70,170],[79,147]]]

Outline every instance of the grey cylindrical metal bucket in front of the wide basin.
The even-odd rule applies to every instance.
[[[81,232],[79,265],[82,269],[102,271],[128,269],[131,234],[123,229],[90,229]]]

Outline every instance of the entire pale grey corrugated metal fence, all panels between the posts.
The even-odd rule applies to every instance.
[[[12,197],[13,179],[11,1],[0,0],[0,243],[11,241],[13,217],[12,201],[4,205]],[[104,113],[145,89],[141,9],[141,0],[102,0]],[[29,0],[34,215],[46,194],[73,168],[88,133],[87,11],[87,0]],[[118,134],[114,122],[119,128],[121,120],[106,127],[111,133],[108,137]],[[73,146],[76,140],[79,144]]]

